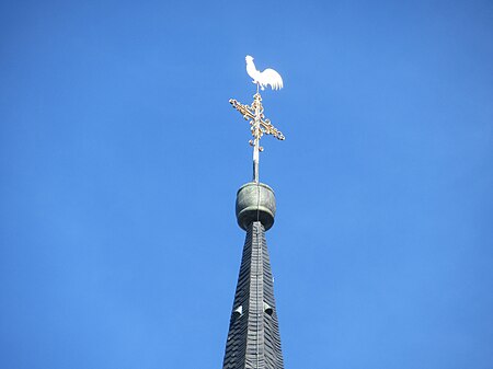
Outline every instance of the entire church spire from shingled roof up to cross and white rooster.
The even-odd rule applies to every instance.
[[[248,68],[251,69],[248,58]],[[249,74],[251,72],[252,70]],[[260,146],[261,137],[265,134],[284,140],[283,134],[265,118],[262,96],[259,93],[259,87],[263,88],[263,84],[283,85],[282,80],[279,82],[280,76],[273,72],[275,71],[272,69],[264,70],[262,73],[265,74],[252,72],[257,91],[251,106],[236,100],[229,101],[246,120],[250,119],[253,136],[253,140],[250,140],[253,146],[253,181],[241,186],[237,193],[237,220],[240,228],[246,231],[246,238],[222,369],[284,369],[274,278],[265,239],[265,232],[274,224],[276,199],[274,191],[259,181],[259,153],[263,151]]]

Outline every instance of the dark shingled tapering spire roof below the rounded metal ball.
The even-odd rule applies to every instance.
[[[241,314],[236,313],[239,307]],[[284,368],[271,262],[260,221],[246,230],[222,368]]]

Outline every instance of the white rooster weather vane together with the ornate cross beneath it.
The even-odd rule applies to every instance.
[[[264,148],[260,146],[261,137],[265,134],[273,135],[279,140],[285,139],[284,135],[271,124],[271,120],[265,118],[259,89],[263,91],[266,85],[271,85],[272,90],[280,90],[283,88],[283,78],[271,68],[265,69],[263,72],[257,70],[253,64],[253,57],[250,55],[246,55],[245,60],[246,73],[253,79],[252,82],[256,84],[253,103],[250,106],[243,105],[234,99],[230,99],[229,103],[243,115],[245,120],[250,120],[250,130],[253,136],[253,140],[250,140],[250,145],[253,146],[253,181],[259,183],[259,152],[264,151]]]

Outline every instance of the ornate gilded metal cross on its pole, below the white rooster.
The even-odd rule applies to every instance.
[[[243,115],[245,120],[250,119],[250,130],[253,136],[253,140],[249,141],[253,146],[253,181],[259,183],[259,151],[264,151],[264,148],[260,146],[261,137],[264,134],[273,135],[278,140],[284,140],[285,137],[272,125],[270,119],[265,118],[262,96],[259,92],[253,95],[253,103],[250,106],[243,105],[234,99],[230,99],[229,103]]]

